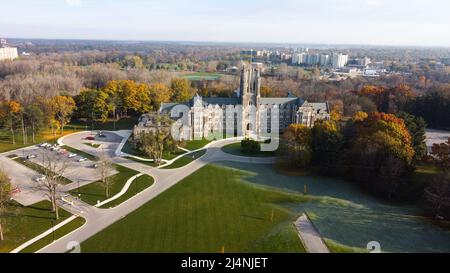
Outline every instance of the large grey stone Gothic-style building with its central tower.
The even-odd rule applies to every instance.
[[[186,103],[163,103],[159,114],[176,121],[172,133],[178,139],[222,139],[245,136],[278,136],[291,124],[312,127],[330,119],[328,103],[310,103],[289,94],[285,98],[262,98],[262,64],[252,63],[241,71],[240,89],[232,98],[203,98],[198,94]],[[155,115],[143,115],[134,135],[155,129]],[[177,132],[175,132],[177,131]]]

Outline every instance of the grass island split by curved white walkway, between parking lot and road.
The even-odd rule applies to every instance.
[[[138,174],[137,171],[125,168],[123,166],[115,166],[116,170],[119,172],[111,177],[111,184],[109,188],[109,197],[113,197],[114,195],[118,194],[123,187],[125,186],[125,183],[130,179],[131,177]],[[141,183],[136,183],[136,181],[133,182],[132,186],[128,190],[128,192],[124,195],[126,197],[131,197],[134,194],[140,192],[143,190],[143,188],[147,188],[153,184],[153,178],[144,176],[141,179],[137,180]],[[142,182],[144,181],[144,182]],[[135,184],[136,183],[136,184]],[[82,201],[90,204],[90,205],[96,205],[97,201],[104,201],[108,199],[106,197],[106,191],[105,187],[101,182],[94,182],[89,185],[86,185],[84,187],[81,187],[79,189],[75,189],[70,192],[73,196],[79,196]],[[124,200],[128,199],[122,196],[120,199],[115,200],[113,203],[108,204],[106,207],[115,206],[119,204],[119,201],[123,202]],[[120,202],[120,203],[121,203]]]

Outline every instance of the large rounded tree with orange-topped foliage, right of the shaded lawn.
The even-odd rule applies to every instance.
[[[415,152],[403,119],[371,113],[354,124],[356,139],[348,158],[352,176],[389,199],[407,194]]]

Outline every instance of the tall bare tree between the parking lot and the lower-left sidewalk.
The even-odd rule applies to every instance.
[[[49,150],[43,150],[42,166],[44,167],[44,177],[39,181],[39,186],[47,192],[56,220],[59,219],[58,188],[64,179],[64,173],[68,165],[69,159],[67,157],[52,154]]]

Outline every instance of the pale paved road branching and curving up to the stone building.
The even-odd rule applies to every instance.
[[[125,201],[121,205],[112,209],[99,209],[90,206],[81,201],[75,201],[74,206],[68,206],[67,204],[61,204],[61,206],[70,211],[73,214],[80,215],[86,219],[86,224],[77,229],[76,231],[66,235],[65,237],[55,241],[54,243],[43,248],[39,252],[42,253],[60,253],[66,252],[66,246],[69,242],[83,242],[95,235],[96,233],[102,231],[108,226],[114,224],[118,220],[124,218],[131,212],[135,211],[139,207],[151,201],[153,198],[163,193],[170,187],[174,186],[184,178],[188,177],[192,173],[196,172],[200,168],[207,164],[218,162],[218,161],[234,161],[234,162],[245,162],[254,164],[271,164],[275,161],[275,158],[248,158],[241,156],[234,156],[224,153],[221,148],[228,144],[236,143],[237,139],[221,140],[210,143],[205,149],[206,154],[193,161],[189,165],[179,168],[179,169],[157,169],[150,166],[128,160],[126,158],[117,157],[115,152],[119,147],[120,141],[123,139],[118,134],[114,132],[108,132],[107,139],[105,139],[102,144],[101,149],[95,149],[88,145],[83,144],[82,139],[89,135],[89,132],[77,133],[62,139],[65,145],[73,147],[75,149],[81,150],[83,152],[100,155],[101,153],[109,156],[111,160],[118,165],[136,170],[138,172],[148,174],[152,176],[155,183],[152,187],[144,190],[143,192],[137,194],[131,199]],[[96,141],[99,143],[99,141]]]

